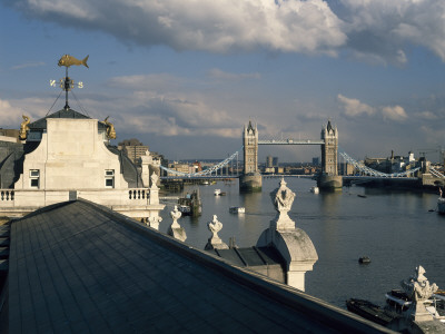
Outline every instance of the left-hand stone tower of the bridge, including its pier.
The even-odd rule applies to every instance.
[[[239,177],[239,189],[246,193],[261,191],[263,179],[258,171],[258,128],[251,125],[244,127],[244,170]]]

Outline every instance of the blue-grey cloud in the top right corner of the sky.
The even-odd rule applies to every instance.
[[[405,63],[404,49],[423,46],[445,61],[443,0],[340,0],[348,47],[360,58]],[[347,23],[346,23],[347,22]]]

